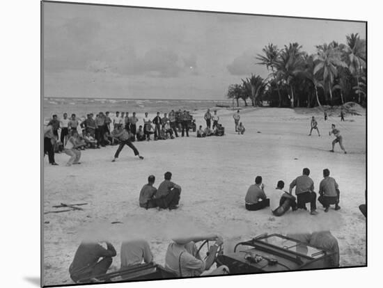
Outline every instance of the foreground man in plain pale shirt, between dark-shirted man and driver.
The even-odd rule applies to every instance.
[[[145,240],[123,241],[121,244],[121,270],[130,266],[153,262],[149,243]]]

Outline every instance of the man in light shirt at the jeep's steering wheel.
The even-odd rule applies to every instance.
[[[215,243],[210,246],[209,256],[203,261],[198,253],[196,242],[205,240],[215,240]],[[228,274],[229,270],[225,265],[208,272],[212,264],[214,264],[219,246],[223,243],[223,239],[217,235],[173,239],[166,251],[165,268],[178,277]]]

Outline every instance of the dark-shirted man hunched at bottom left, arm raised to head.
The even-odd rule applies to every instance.
[[[116,249],[109,242],[107,249],[100,243],[90,243],[83,241],[77,248],[75,258],[69,267],[70,278],[76,283],[81,279],[94,278],[97,275],[107,273],[112,257],[116,256]],[[102,258],[100,261],[98,261]]]

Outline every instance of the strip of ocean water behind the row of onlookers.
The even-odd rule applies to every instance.
[[[219,106],[231,106],[231,100],[185,100],[185,99],[95,99],[95,98],[44,98],[42,101],[42,115],[45,120],[52,118],[52,115],[63,117],[63,113],[68,116],[75,113],[77,117],[84,118],[88,113],[99,113],[109,111],[114,115],[116,111],[133,112],[137,114],[148,112],[153,115],[157,111],[163,114],[169,113],[172,109],[177,111],[193,111],[199,109],[212,109]]]

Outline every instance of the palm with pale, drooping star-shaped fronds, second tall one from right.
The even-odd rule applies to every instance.
[[[347,67],[347,65],[341,60],[341,50],[334,48],[333,45],[324,44],[317,46],[317,49],[318,54],[313,58],[315,61],[314,74],[320,74],[323,82],[327,83],[332,105],[332,86],[335,77],[338,76],[337,67]]]

